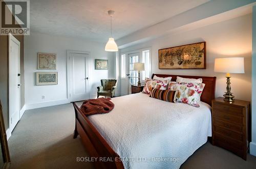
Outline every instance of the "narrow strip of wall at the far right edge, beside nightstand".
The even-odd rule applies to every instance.
[[[252,98],[251,98],[251,134],[250,154],[256,156],[256,6],[252,9]]]

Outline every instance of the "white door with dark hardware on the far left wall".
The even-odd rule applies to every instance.
[[[9,128],[11,131],[20,118],[19,51],[19,41],[9,35]]]

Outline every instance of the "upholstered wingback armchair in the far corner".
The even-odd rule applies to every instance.
[[[102,96],[110,96],[111,98],[115,97],[116,92],[116,82],[115,79],[101,79],[101,86],[98,86],[97,98],[100,95]]]

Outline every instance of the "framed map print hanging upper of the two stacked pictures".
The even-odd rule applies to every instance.
[[[37,69],[56,70],[56,54],[37,53]]]

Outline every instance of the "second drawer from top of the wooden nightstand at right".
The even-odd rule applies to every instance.
[[[236,123],[238,125],[242,125],[243,123],[242,116],[231,115],[231,114],[222,112],[220,110],[214,110],[212,114],[216,118],[227,120],[228,122],[231,122],[231,123]]]

